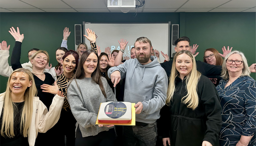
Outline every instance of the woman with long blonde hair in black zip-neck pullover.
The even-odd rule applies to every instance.
[[[196,70],[189,51],[176,53],[173,60],[159,119],[163,145],[218,146],[222,108],[214,84]]]

